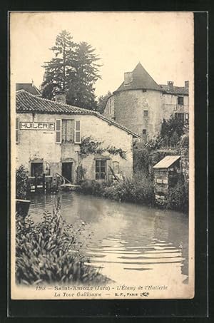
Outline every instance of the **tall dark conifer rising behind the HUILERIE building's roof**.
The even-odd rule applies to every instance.
[[[57,91],[66,93],[66,103],[96,109],[94,85],[101,76],[95,49],[88,43],[74,43],[68,31],[61,31],[51,48],[54,58],[44,65],[43,97],[53,99]]]

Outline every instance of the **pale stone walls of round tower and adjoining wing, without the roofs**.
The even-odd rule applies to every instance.
[[[160,133],[163,118],[168,120],[174,113],[188,114],[188,109],[189,97],[186,95],[180,106],[178,95],[139,89],[115,92],[108,98],[103,115],[148,140]],[[144,135],[143,129],[146,130]]]

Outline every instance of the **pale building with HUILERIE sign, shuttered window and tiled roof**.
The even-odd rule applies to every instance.
[[[82,158],[81,139],[88,137],[101,142],[103,150]],[[86,170],[87,180],[110,180],[111,169],[131,177],[133,138],[138,135],[132,130],[95,111],[47,100],[24,90],[16,92],[16,168],[24,165],[30,178],[45,174],[52,179],[58,174],[75,184],[80,164]],[[116,149],[126,152],[126,159]]]

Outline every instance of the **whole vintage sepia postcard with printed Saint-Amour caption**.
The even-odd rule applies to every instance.
[[[11,298],[194,297],[194,22],[9,13]]]

